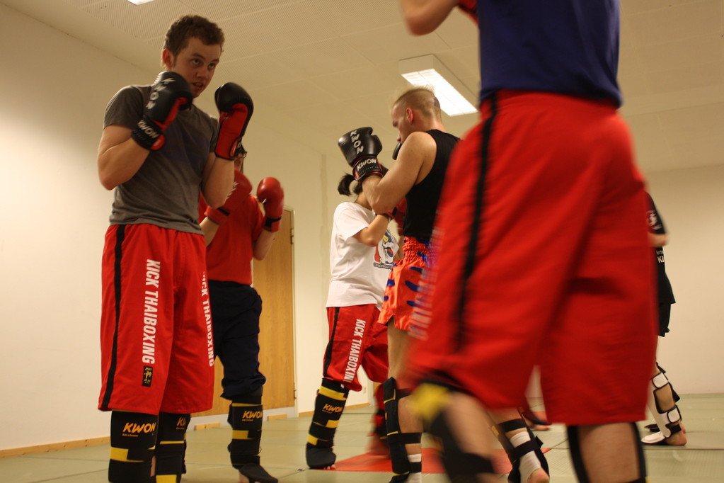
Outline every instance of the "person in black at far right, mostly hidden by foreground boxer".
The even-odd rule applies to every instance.
[[[671,305],[675,303],[673,290],[669,277],[666,275],[664,261],[664,245],[668,243],[668,233],[664,221],[659,216],[653,198],[649,198],[647,221],[649,223],[649,240],[656,259],[658,302],[659,302],[659,337],[665,337],[669,332],[669,317]],[[678,394],[673,390],[666,371],[657,363],[654,364],[654,374],[650,384],[649,411],[654,416],[656,424],[649,425],[649,429],[657,429],[654,434],[641,438],[644,445],[686,445],[686,435],[681,426],[681,412],[676,406]]]

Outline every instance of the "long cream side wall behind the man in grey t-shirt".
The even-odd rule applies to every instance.
[[[111,96],[156,72],[3,5],[0,43],[10,66],[0,91],[0,450],[106,436],[109,415],[96,405],[111,193],[98,182],[96,148]],[[197,99],[207,112],[217,85],[243,84],[223,75]],[[303,127],[285,135],[275,125],[291,132],[282,116],[257,105],[245,138],[247,172],[255,184],[279,178],[294,210],[298,409],[310,411],[327,340],[327,156],[300,142],[313,135]]]

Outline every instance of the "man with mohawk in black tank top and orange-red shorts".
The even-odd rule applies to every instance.
[[[384,291],[379,322],[387,325],[390,374],[384,382],[387,442],[392,458],[393,482],[418,482],[421,478],[421,426],[408,406],[409,387],[398,379],[404,369],[408,332],[421,274],[429,263],[429,240],[442,178],[458,138],[445,132],[439,101],[432,91],[414,88],[392,106],[397,128],[396,161],[382,177],[376,156],[382,144],[370,127],[342,136],[340,148],[355,179],[377,212],[393,209],[405,198],[403,259],[395,263]]]

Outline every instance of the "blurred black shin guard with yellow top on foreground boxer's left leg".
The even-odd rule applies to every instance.
[[[435,382],[425,382],[415,391],[416,406],[425,408],[420,415],[423,427],[434,437],[450,480],[455,483],[476,483],[479,481],[478,476],[495,474],[492,461],[481,455],[466,453],[458,445],[458,436],[452,431],[445,416],[450,391],[450,388]]]

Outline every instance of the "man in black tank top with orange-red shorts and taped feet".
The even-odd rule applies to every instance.
[[[384,383],[384,407],[387,418],[387,440],[390,445],[392,472],[390,483],[420,482],[421,478],[421,421],[410,406],[412,387],[403,377],[405,354],[410,335],[424,331],[426,307],[418,297],[424,270],[432,264],[429,251],[437,204],[442,193],[445,171],[458,138],[445,132],[439,101],[424,88],[403,93],[392,105],[392,126],[397,128],[398,144],[395,164],[384,177],[376,170],[359,173],[372,209],[376,213],[391,211],[397,203],[406,201],[403,222],[403,259],[395,263],[384,293],[379,323],[387,325],[390,355],[390,378]],[[360,136],[361,145],[374,146],[369,139],[371,129],[359,129],[351,140]],[[345,140],[343,137],[342,140]],[[340,142],[342,141],[340,140]],[[345,141],[346,142],[346,141]],[[376,140],[379,143],[379,140]],[[340,144],[341,146],[341,144]],[[343,148],[342,151],[345,151]],[[349,156],[348,156],[349,157]],[[349,161],[349,160],[348,160]],[[355,165],[356,166],[356,165]],[[356,172],[356,169],[355,169]],[[547,473],[547,463],[539,440],[530,432],[516,408],[500,411],[498,433],[506,449],[516,477],[536,471]],[[517,433],[518,436],[515,436]],[[534,445],[513,445],[508,437],[527,437]],[[520,448],[519,448],[520,447]],[[525,461],[521,471],[521,461]],[[521,474],[522,473],[522,474]]]

